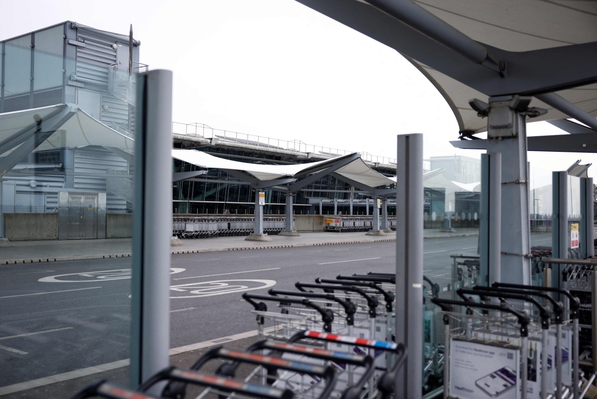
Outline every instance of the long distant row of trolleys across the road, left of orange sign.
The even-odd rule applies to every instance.
[[[263,232],[269,235],[284,231],[284,217],[264,217]],[[254,217],[173,217],[172,235],[178,238],[210,238],[253,233]]]

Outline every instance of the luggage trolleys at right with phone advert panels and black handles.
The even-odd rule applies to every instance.
[[[433,297],[444,323],[444,397],[581,398],[580,300],[564,288],[495,283]]]

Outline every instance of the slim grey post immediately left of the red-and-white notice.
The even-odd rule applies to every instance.
[[[565,171],[552,173],[553,186],[553,226],[552,226],[552,256],[555,258],[568,257],[568,173]],[[562,280],[562,265],[552,264],[552,287],[560,288]]]

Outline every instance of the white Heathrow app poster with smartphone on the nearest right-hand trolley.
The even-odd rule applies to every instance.
[[[518,399],[518,376],[518,349],[451,339],[450,397]]]

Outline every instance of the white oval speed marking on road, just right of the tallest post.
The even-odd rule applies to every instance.
[[[276,284],[274,280],[215,280],[203,281],[202,283],[180,284],[171,286],[174,291],[171,299],[177,298],[199,298],[221,294],[231,294],[241,291],[259,290],[269,288]]]

